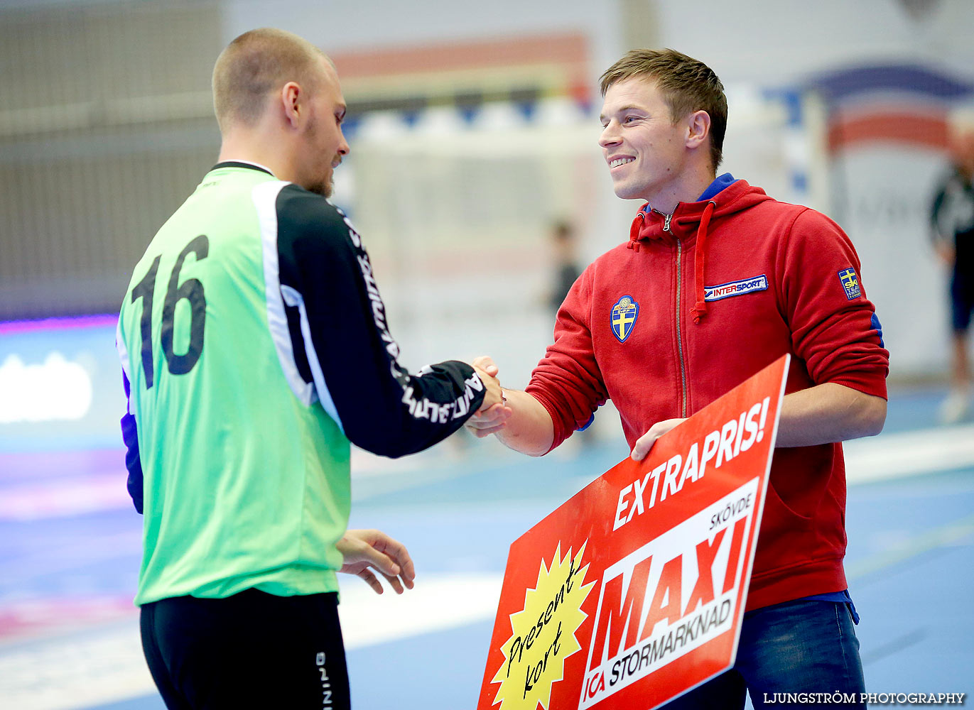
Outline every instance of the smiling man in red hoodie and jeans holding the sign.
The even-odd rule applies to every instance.
[[[756,708],[775,692],[862,692],[839,442],[882,429],[889,354],[859,258],[825,215],[716,177],[727,98],[701,62],[629,52],[601,89],[599,144],[616,195],[647,204],[628,242],[575,282],[527,391],[505,389],[506,404],[468,428],[540,456],[611,397],[641,460],[660,435],[790,353],[736,663],[671,706],[742,708],[745,691]]]

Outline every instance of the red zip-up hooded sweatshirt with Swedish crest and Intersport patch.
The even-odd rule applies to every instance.
[[[835,222],[744,180],[671,218],[644,206],[630,241],[575,282],[532,374],[551,448],[610,397],[631,448],[785,353],[786,393],[834,382],[885,398],[889,354],[859,274]],[[842,591],[844,554],[842,444],[776,449],[747,609]]]

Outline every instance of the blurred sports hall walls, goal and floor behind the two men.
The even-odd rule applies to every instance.
[[[596,145],[599,74],[632,47],[702,59],[724,168],[837,219],[891,352],[880,437],[846,446],[847,571],[870,691],[974,691],[974,425],[940,427],[943,268],[927,209],[946,119],[974,102],[969,0],[0,0],[0,707],[158,709],[131,606],[114,314],[131,266],[215,161],[209,72],[246,29],[331,55],[363,235],[403,360],[493,355],[523,387],[551,333],[549,226],[581,262],[624,239]],[[357,707],[468,708],[507,546],[627,451],[611,405],[541,460],[461,433],[356,453],[353,525],[417,588],[344,579]]]

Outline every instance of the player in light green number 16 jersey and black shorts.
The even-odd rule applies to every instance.
[[[219,161],[135,266],[119,318],[135,603],[169,708],[348,708],[336,572],[411,586],[405,548],[347,531],[350,442],[421,451],[493,377],[398,362],[368,254],[326,199],[348,154],[338,77],[259,29],[213,70]]]

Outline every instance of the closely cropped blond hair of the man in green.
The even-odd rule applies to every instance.
[[[314,89],[316,64],[327,59],[315,45],[282,29],[263,27],[231,42],[213,67],[213,110],[220,130],[228,124],[253,126],[267,98],[290,81]]]

